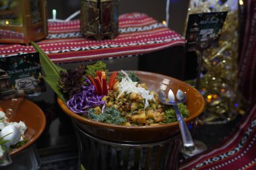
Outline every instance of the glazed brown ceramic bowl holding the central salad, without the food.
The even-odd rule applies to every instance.
[[[187,124],[195,120],[195,118],[203,112],[205,106],[203,96],[191,85],[165,75],[144,71],[134,72],[135,75],[139,77],[141,83],[146,83],[150,91],[157,91],[160,87],[165,88],[167,91],[166,93],[168,93],[169,88],[171,88],[174,93],[176,93],[178,89],[184,91],[187,95],[187,102],[185,104],[189,110],[189,118],[185,119]],[[136,143],[157,142],[172,138],[172,136],[179,133],[179,125],[177,122],[158,126],[119,126],[106,124],[92,121],[71,112],[71,110],[67,108],[66,103],[60,98],[57,98],[57,102],[75,125],[86,130],[86,132],[92,136],[96,136],[103,140]]]

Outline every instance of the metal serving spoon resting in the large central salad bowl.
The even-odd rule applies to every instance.
[[[174,93],[171,89],[168,91],[168,99],[169,101],[166,101],[166,95],[164,91],[158,90],[158,99],[161,103],[165,105],[173,105],[173,108],[176,113],[177,121],[179,123],[179,128],[181,130],[181,138],[183,140],[183,146],[186,151],[193,151],[195,149],[195,144],[193,142],[193,139],[191,137],[191,134],[189,132],[189,128],[187,128],[187,124],[184,122],[183,117],[181,116],[181,112],[178,108],[178,103],[185,103],[187,101],[187,97],[183,91],[180,89],[177,91],[176,94],[177,101],[175,101]]]

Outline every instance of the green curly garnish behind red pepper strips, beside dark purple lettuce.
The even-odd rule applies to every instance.
[[[98,61],[94,65],[87,65],[86,66],[86,77],[88,77],[88,75],[90,75],[92,77],[96,77],[96,71],[104,71],[107,75],[108,71],[106,69],[106,63],[104,63],[102,61]]]

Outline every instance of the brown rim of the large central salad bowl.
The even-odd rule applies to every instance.
[[[180,81],[179,79],[175,79],[172,77],[168,77],[166,75],[160,75],[158,73],[150,73],[150,72],[146,72],[146,71],[134,71],[135,73],[143,73],[143,74],[151,74],[153,76],[158,76],[158,77],[163,77],[166,79],[172,79],[174,81],[177,81],[177,83],[181,83],[183,85],[189,86],[190,88],[195,89],[194,87],[190,86],[189,84]],[[197,91],[197,89],[195,89],[195,91]],[[199,93],[199,91],[197,91],[196,93]],[[201,93],[199,93],[199,98],[202,101],[201,107],[199,108],[199,110],[197,111],[197,114],[193,114],[192,116],[189,116],[189,118],[185,118],[185,122],[189,123],[191,121],[193,121],[195,118],[197,118],[204,110],[205,108],[205,100],[203,98],[203,96],[201,95]],[[160,124],[157,126],[123,126],[123,125],[115,125],[115,124],[106,124],[106,123],[102,123],[102,122],[96,122],[94,120],[90,120],[88,118],[84,118],[83,116],[79,116],[79,114],[75,114],[74,112],[72,112],[71,110],[69,110],[69,108],[67,108],[67,105],[65,103],[65,101],[63,101],[61,98],[57,97],[57,102],[59,103],[59,105],[61,106],[61,108],[63,109],[63,111],[68,114],[71,118],[75,118],[75,120],[82,122],[83,124],[88,124],[90,126],[100,126],[102,128],[108,128],[108,129],[115,129],[115,130],[145,130],[145,129],[161,129],[161,128],[168,128],[171,126],[178,126],[178,122],[173,122],[170,124]]]

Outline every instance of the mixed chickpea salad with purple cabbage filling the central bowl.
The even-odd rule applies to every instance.
[[[149,91],[133,72],[114,71],[108,77],[102,61],[61,71],[59,89],[67,96],[67,107],[86,118],[124,126],[156,126],[176,122],[173,107],[162,105],[156,91]],[[189,116],[179,103],[183,118]]]

